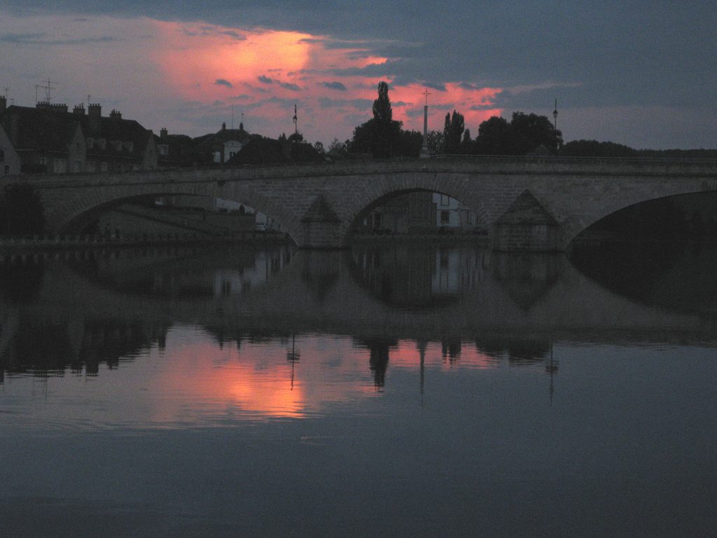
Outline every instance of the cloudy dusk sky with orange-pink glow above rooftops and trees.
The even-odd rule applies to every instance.
[[[372,117],[472,135],[491,115],[552,119],[565,141],[717,148],[717,0],[0,0],[0,93],[100,103],[156,133],[222,122],[328,145]],[[39,87],[39,88],[38,88]],[[5,90],[7,88],[7,90]],[[429,95],[424,95],[428,91]]]

